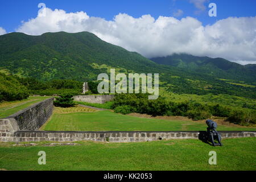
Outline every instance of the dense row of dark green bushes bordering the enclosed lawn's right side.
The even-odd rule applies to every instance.
[[[172,102],[164,97],[148,100],[146,94],[117,94],[112,109],[116,113],[142,113],[150,115],[181,115],[193,120],[207,119],[212,116],[226,117],[230,122],[249,126],[256,123],[255,110],[232,110],[221,105],[208,105],[199,102]]]

